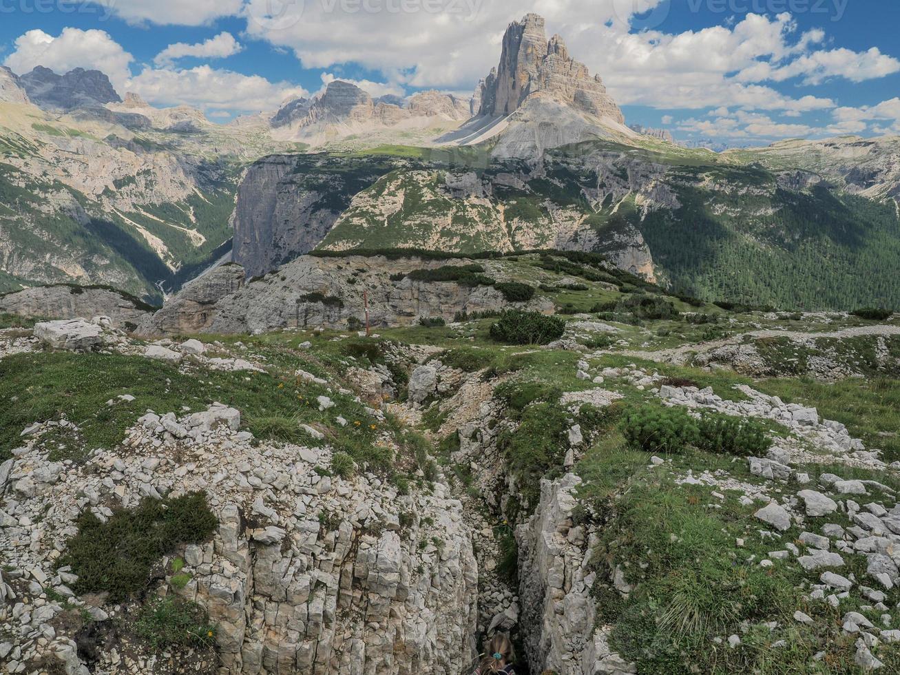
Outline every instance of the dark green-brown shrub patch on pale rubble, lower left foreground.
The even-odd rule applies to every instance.
[[[207,540],[218,521],[206,495],[193,492],[175,500],[143,500],[135,509],[113,512],[105,523],[86,510],[77,524],[58,566],[72,566],[78,595],[108,591],[112,602],[121,602],[146,589],[159,558],[176,546]]]

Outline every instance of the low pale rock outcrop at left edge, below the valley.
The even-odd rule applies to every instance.
[[[0,312],[31,319],[92,319],[108,317],[117,329],[134,329],[152,314],[137,298],[108,288],[67,284],[36,286],[0,295]]]

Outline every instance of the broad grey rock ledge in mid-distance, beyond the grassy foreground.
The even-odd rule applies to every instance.
[[[512,306],[553,311],[553,303],[545,298],[510,303],[491,286],[410,278],[392,280],[392,275],[398,273],[471,262],[303,256],[244,286],[238,282],[243,271],[238,266],[228,266],[189,284],[151,320],[145,321],[139,332],[233,334],[294,328],[360,328],[365,325],[364,292],[373,327],[411,325],[430,317],[452,321],[457,312],[500,311]],[[497,268],[489,269],[489,274],[505,279]],[[229,288],[234,288],[232,293],[210,302]]]

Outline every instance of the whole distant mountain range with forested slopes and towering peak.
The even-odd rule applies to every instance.
[[[0,292],[158,302],[229,256],[263,275],[316,247],[555,247],[704,298],[900,306],[898,200],[897,138],[716,153],[628,126],[536,14],[469,99],[334,81],[226,125],[97,71],[0,68]]]

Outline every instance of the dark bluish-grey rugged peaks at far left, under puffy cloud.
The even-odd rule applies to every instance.
[[[20,79],[31,101],[45,110],[66,112],[121,103],[110,78],[99,70],[75,68],[60,76],[38,66]]]

